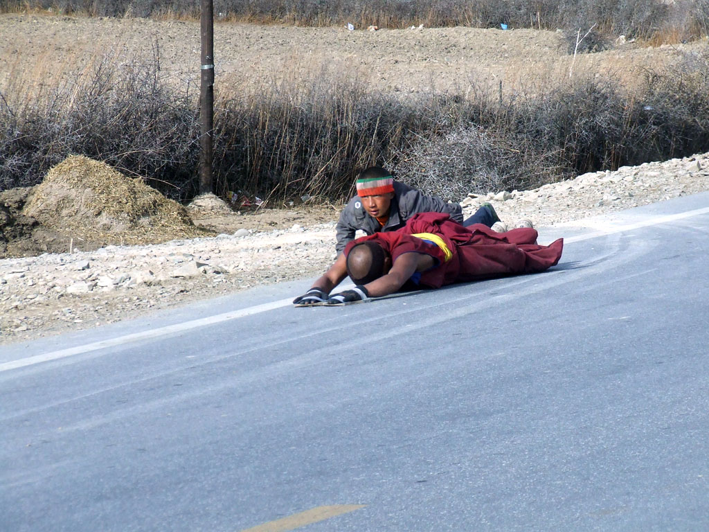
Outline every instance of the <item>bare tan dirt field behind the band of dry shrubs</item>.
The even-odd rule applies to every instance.
[[[199,21],[0,15],[0,35],[0,90],[13,79],[45,82],[104,53],[117,60],[157,55],[162,72],[174,82],[199,82]],[[574,60],[559,31],[347,31],[216,22],[215,91],[307,78],[323,70],[403,93],[497,91],[500,84],[504,92],[529,90],[567,79],[572,67],[574,75],[613,75],[632,84],[647,67],[703,46],[705,41],[658,48],[619,43]]]

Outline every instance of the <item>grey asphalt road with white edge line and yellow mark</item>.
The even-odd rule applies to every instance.
[[[709,194],[592,225],[538,275],[4,346],[0,530],[708,530]]]

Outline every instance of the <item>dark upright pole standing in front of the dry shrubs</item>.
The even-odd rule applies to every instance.
[[[201,76],[199,145],[199,193],[213,192],[212,135],[214,126],[214,6],[213,0],[201,0]]]

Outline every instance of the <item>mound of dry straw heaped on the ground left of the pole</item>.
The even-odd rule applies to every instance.
[[[82,155],[52,167],[23,214],[58,233],[106,244],[147,244],[211,233],[186,209],[138,179]]]

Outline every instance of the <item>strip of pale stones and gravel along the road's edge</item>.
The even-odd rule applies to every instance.
[[[709,153],[593,172],[530,191],[469,194],[462,205],[469,215],[482,201],[491,201],[508,226],[523,218],[537,227],[582,225],[588,216],[706,190]],[[333,216],[328,223],[294,224],[285,230],[242,228],[233,234],[156,245],[108,245],[94,251],[0,260],[0,343],[314,277],[334,257]]]

